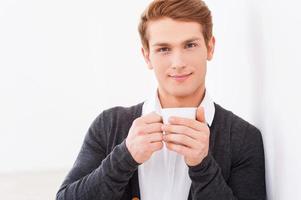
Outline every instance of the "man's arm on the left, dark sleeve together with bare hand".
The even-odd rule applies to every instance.
[[[115,134],[112,138],[118,137],[118,133],[110,132],[116,131],[118,125],[113,123],[114,128],[106,128],[105,122],[115,118],[104,117],[104,113],[91,125],[77,160],[57,193],[57,200],[121,199],[139,163],[163,147],[162,118],[150,113],[135,119],[127,138],[107,155],[106,132]]]

